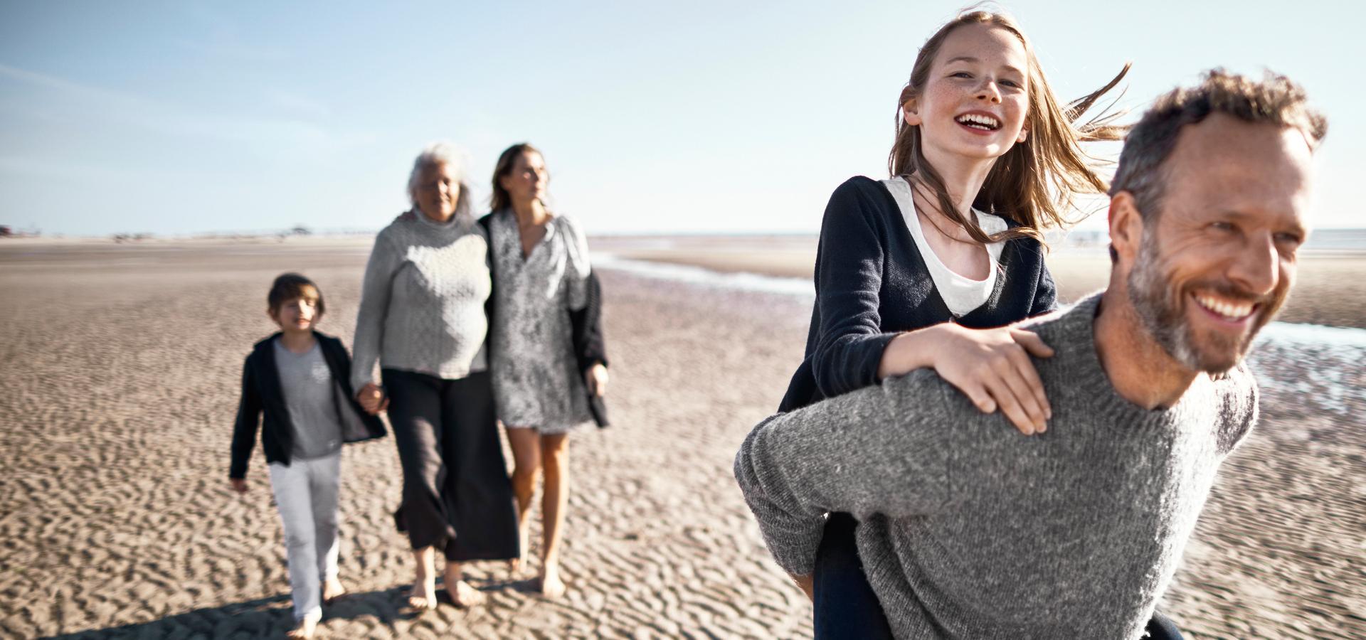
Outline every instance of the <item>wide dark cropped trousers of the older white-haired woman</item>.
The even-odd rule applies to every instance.
[[[381,374],[403,465],[395,521],[413,549],[434,546],[448,562],[516,558],[516,499],[489,373],[459,379],[395,368]]]

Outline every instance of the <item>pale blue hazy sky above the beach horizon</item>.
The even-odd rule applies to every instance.
[[[428,142],[546,156],[590,232],[814,232],[885,173],[919,45],[963,4],[0,0],[0,224],[46,233],[377,229]],[[1320,227],[1366,227],[1359,10],[1007,1],[1059,96],[1124,105],[1270,67],[1328,113]],[[1100,222],[1094,217],[1091,225]]]

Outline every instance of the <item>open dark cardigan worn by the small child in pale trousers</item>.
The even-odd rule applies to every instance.
[[[242,366],[242,401],[238,405],[236,424],[232,427],[232,467],[228,469],[228,478],[246,478],[258,424],[264,424],[261,449],[265,450],[265,461],[290,464],[290,453],[294,450],[294,424],[290,422],[290,409],[280,389],[280,373],[275,366],[272,343],[277,337],[279,332],[257,343]],[[342,416],[342,441],[358,442],[384,437],[384,423],[380,418],[366,413],[355,400],[355,390],[351,389],[351,356],[346,347],[340,340],[324,333],[313,332],[313,337],[322,349],[322,360],[328,363],[336,386],[333,398],[337,403],[337,415]],[[264,423],[262,413],[265,413]]]

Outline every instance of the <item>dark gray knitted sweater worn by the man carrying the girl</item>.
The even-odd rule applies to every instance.
[[[1100,295],[1026,323],[1053,419],[1020,435],[930,370],[775,415],[735,478],[777,564],[813,570],[826,512],[858,550],[896,637],[1137,639],[1220,461],[1257,419],[1239,366],[1162,411],[1109,385]]]

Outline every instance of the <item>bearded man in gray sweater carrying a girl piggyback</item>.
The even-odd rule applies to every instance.
[[[777,564],[806,580],[847,512],[899,639],[1139,637],[1257,419],[1243,356],[1294,284],[1325,131],[1284,76],[1158,98],[1111,188],[1109,287],[1022,325],[1056,351],[1046,433],[932,370],[772,416],[735,476]]]

